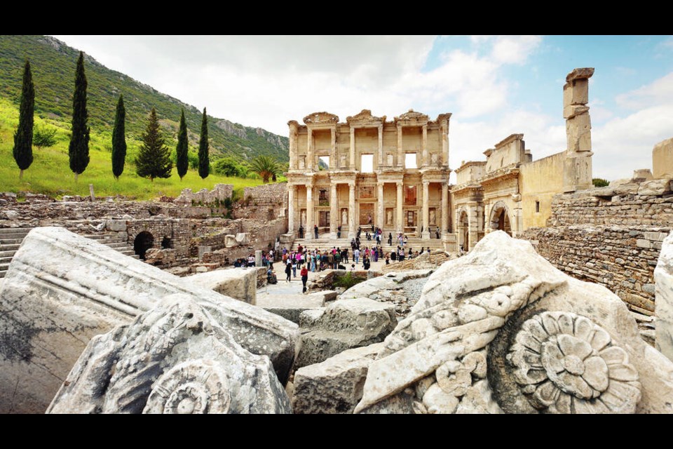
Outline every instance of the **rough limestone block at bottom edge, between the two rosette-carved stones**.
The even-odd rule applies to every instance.
[[[293,413],[353,413],[362,398],[367,368],[383,343],[347,349],[294,373]]]

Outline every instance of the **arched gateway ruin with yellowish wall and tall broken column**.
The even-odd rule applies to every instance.
[[[552,196],[592,187],[589,78],[594,69],[574,69],[563,87],[567,147],[533,161],[523,134],[512,134],[487,149],[486,161],[463,162],[451,186],[456,245],[474,248],[484,234],[501,229],[519,236],[544,227]],[[451,248],[447,241],[447,249]]]

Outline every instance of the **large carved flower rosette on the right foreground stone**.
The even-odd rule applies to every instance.
[[[634,413],[637,370],[590,319],[545,311],[525,321],[508,361],[522,393],[543,413]]]

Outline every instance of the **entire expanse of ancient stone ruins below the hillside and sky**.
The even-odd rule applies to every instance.
[[[0,413],[673,413],[673,138],[593,187],[593,73],[564,151],[494,136],[455,185],[451,114],[364,109],[289,121],[232,218],[0,194]],[[302,292],[284,250],[332,257]]]

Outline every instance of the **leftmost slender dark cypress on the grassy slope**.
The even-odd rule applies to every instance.
[[[16,165],[21,170],[19,179],[23,177],[23,170],[27,170],[33,163],[33,112],[35,109],[35,89],[33,75],[30,72],[30,62],[26,60],[23,68],[23,87],[19,109],[19,126],[14,133],[13,155]]]

